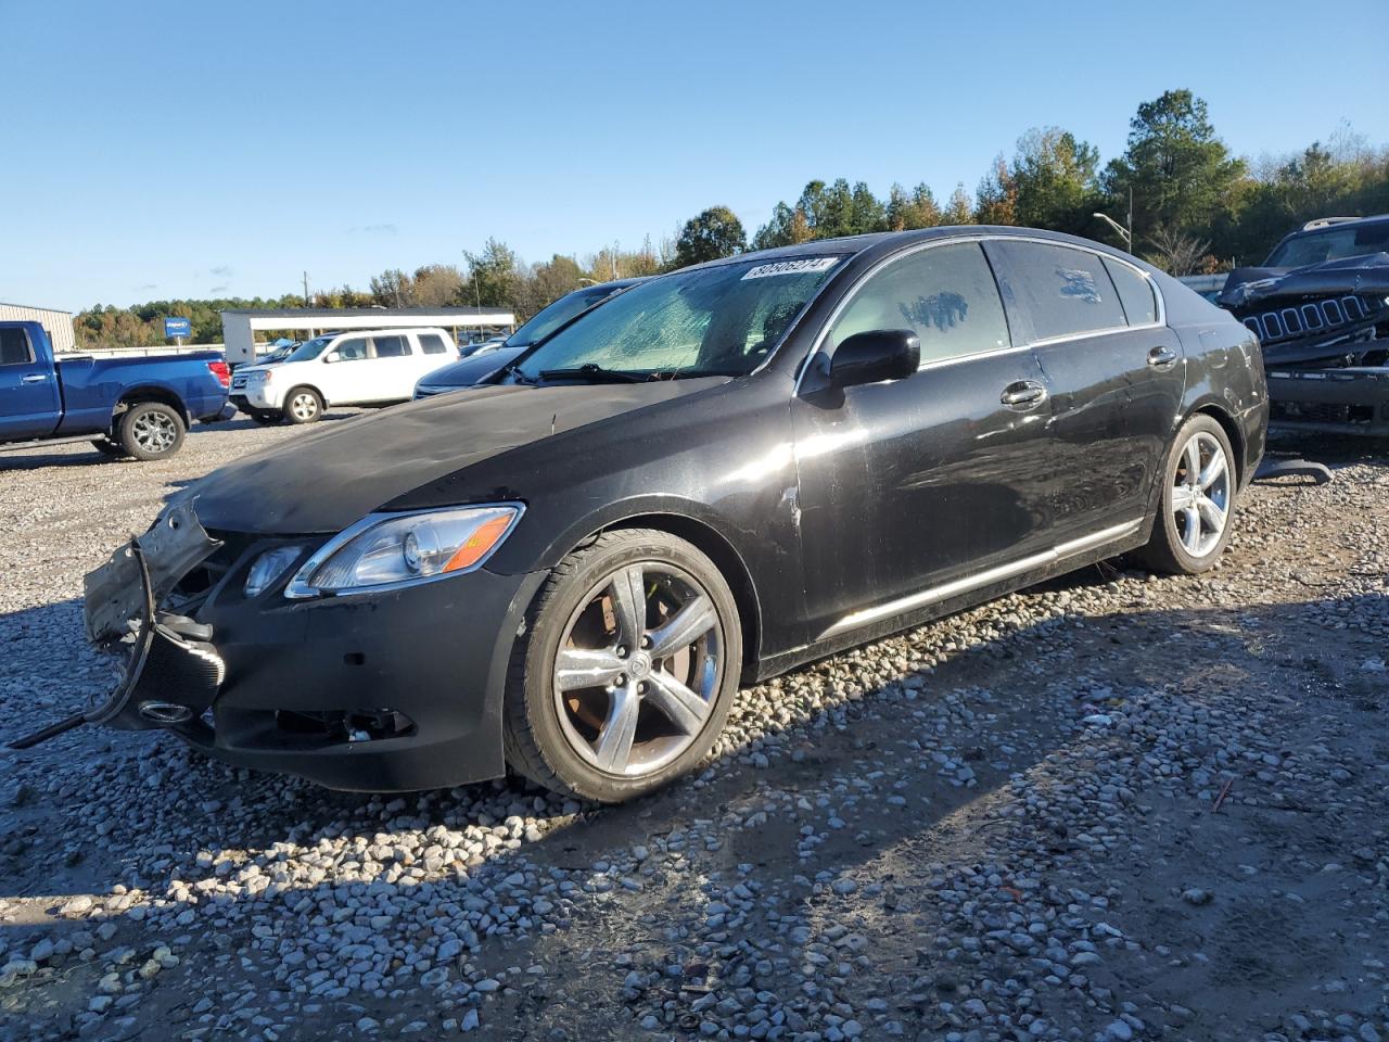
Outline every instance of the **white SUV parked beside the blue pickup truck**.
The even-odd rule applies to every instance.
[[[258,424],[311,424],[332,406],[404,402],[426,372],[458,360],[443,329],[365,329],[306,340],[285,361],[232,374],[232,404]]]

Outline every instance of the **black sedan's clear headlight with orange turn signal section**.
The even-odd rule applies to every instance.
[[[472,571],[501,545],[522,510],[506,503],[371,514],[304,561],[285,596],[381,590]]]

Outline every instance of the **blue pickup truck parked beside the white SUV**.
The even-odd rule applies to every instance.
[[[90,440],[107,456],[160,460],[194,420],[226,414],[219,352],[163,357],[53,357],[38,322],[0,322],[0,453]]]

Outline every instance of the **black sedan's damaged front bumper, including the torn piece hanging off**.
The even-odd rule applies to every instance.
[[[501,775],[506,670],[542,575],[481,568],[315,600],[286,599],[282,577],[246,596],[251,564],[285,542],[210,535],[190,503],[165,511],[88,577],[88,635],[122,656],[115,690],[17,746],[94,722],[336,789]]]

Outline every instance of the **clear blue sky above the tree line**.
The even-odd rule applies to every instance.
[[[1031,126],[1108,160],[1168,88],[1247,156],[1343,121],[1389,142],[1385,0],[0,0],[0,300],[71,310],[364,288],[488,236],[582,258],[714,203],[751,233],[811,178],[945,199]]]

